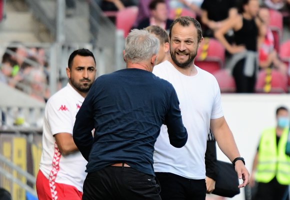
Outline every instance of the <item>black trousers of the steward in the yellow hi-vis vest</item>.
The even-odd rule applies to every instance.
[[[288,185],[280,184],[276,177],[268,183],[259,182],[256,200],[287,200],[289,199]]]

